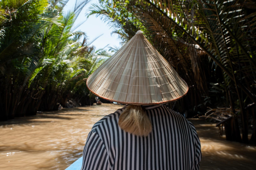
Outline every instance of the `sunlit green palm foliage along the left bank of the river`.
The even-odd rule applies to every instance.
[[[0,2],[0,120],[58,110],[68,98],[89,103],[86,80],[106,53],[94,52],[74,22],[87,0]]]

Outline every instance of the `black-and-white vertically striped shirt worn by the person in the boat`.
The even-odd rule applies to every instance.
[[[82,170],[199,169],[201,146],[192,123],[168,106],[142,106],[152,132],[140,137],[118,126],[125,107],[94,124],[84,146]]]

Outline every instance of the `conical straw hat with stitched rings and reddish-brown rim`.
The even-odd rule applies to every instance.
[[[101,98],[124,104],[158,104],[177,100],[187,83],[138,31],[87,79]]]

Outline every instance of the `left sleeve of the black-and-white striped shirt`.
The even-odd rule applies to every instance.
[[[106,147],[96,131],[88,134],[81,170],[108,169],[108,153]]]

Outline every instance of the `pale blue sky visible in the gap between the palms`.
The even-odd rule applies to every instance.
[[[120,47],[120,40],[118,39],[117,34],[112,34],[111,36],[113,28],[111,28],[107,22],[102,21],[100,17],[96,17],[96,15],[91,15],[89,18],[85,16],[88,13],[91,4],[95,4],[97,2],[98,0],[91,0],[85,5],[84,9],[76,19],[75,26],[81,24],[85,20],[86,21],[74,31],[85,32],[88,37],[88,42],[92,42],[95,38],[103,34],[92,42],[92,45],[96,47],[96,50],[102,49],[107,45]],[[75,0],[69,0],[64,7],[64,12],[73,11],[74,7]],[[108,48],[106,48],[106,50],[108,50]]]

